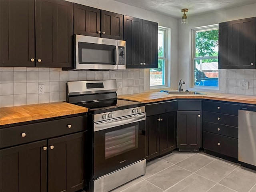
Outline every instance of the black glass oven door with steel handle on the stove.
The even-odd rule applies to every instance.
[[[115,126],[100,130],[94,123],[94,179],[145,158],[145,114],[139,118],[119,118],[110,122]]]

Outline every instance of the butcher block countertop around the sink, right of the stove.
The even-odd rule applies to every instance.
[[[245,104],[256,104],[256,96],[236,95],[226,93],[201,92],[206,95],[178,95],[165,92],[146,92],[130,95],[120,95],[119,99],[137,101],[143,103],[159,102],[171,99],[211,99],[218,101],[239,102]]]

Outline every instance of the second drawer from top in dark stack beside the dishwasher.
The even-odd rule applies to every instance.
[[[203,121],[238,127],[238,116],[203,111]]]

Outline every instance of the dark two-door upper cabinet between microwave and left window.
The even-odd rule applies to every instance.
[[[158,23],[124,16],[126,68],[158,68]]]

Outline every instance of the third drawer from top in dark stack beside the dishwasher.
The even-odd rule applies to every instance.
[[[221,125],[216,124],[212,122],[203,122],[203,131],[220,134],[228,137],[238,138],[238,128],[227,126],[227,125]]]

